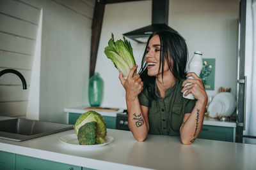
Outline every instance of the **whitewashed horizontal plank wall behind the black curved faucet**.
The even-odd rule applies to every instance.
[[[35,53],[40,9],[21,1],[0,1],[0,71],[15,69],[28,84],[22,90],[18,76],[7,73],[0,78],[0,116],[26,115],[31,68]]]

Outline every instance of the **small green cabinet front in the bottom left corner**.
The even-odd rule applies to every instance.
[[[15,153],[0,151],[0,169],[15,169]]]

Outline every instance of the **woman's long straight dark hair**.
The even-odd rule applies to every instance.
[[[188,47],[186,45],[185,39],[180,36],[177,32],[170,31],[158,31],[150,35],[147,41],[147,46],[150,39],[153,36],[158,35],[161,42],[160,47],[160,65],[158,72],[162,69],[163,78],[163,67],[166,60],[170,71],[177,80],[186,78],[186,63],[188,59]],[[148,69],[146,63],[147,46],[143,54],[143,59],[141,61],[140,77],[143,81],[143,90],[148,90],[148,101],[149,106],[153,99],[156,99],[156,77],[148,76]],[[171,57],[171,60],[169,58]],[[173,62],[172,62],[173,60]]]

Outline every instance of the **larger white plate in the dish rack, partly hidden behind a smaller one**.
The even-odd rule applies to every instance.
[[[221,92],[212,101],[222,101],[224,103],[225,110],[221,113],[221,116],[229,117],[236,108],[236,99],[230,92]]]

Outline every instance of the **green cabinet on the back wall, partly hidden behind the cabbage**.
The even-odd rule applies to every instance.
[[[76,120],[80,116],[80,113],[68,113],[68,124],[76,124]],[[102,117],[104,118],[108,129],[116,129],[116,117]]]

